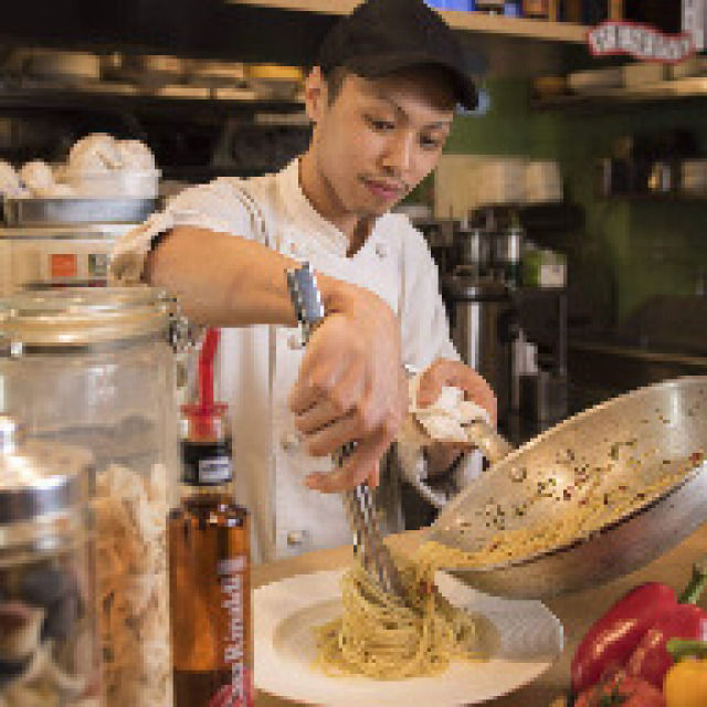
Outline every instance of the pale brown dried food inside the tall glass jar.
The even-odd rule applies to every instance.
[[[170,707],[166,469],[98,474],[96,576],[106,707]]]

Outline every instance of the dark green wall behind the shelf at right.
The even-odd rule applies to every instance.
[[[457,118],[446,151],[560,162],[567,197],[585,212],[584,231],[567,234],[560,247],[570,257],[570,277],[588,298],[608,306],[620,321],[646,297],[696,291],[707,271],[707,198],[602,199],[593,179],[595,159],[609,156],[618,137],[636,131],[689,128],[707,152],[707,97],[540,109],[530,107],[527,81],[499,80],[487,89],[490,109]]]

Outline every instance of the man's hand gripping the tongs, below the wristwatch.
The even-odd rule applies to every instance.
[[[330,474],[310,474],[309,488],[334,493],[378,484],[379,462],[408,409],[398,319],[373,293],[346,285],[326,303],[289,397],[295,426],[314,456],[356,442]]]

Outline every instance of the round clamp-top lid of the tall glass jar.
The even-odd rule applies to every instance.
[[[10,350],[73,347],[166,334],[172,300],[147,285],[22,292],[0,300],[0,337]]]

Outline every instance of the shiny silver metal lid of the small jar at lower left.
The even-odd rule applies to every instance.
[[[89,500],[93,455],[50,440],[22,440],[0,415],[0,548],[72,532]]]

